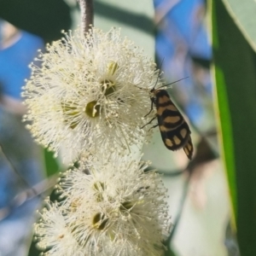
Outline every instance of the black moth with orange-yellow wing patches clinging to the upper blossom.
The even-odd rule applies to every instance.
[[[180,80],[177,80],[176,82]],[[170,84],[166,84],[155,89],[156,84],[157,81],[154,88],[150,90],[151,109],[149,111],[149,113],[152,112],[154,105],[156,108],[156,115],[148,122],[148,124],[150,124],[154,119],[157,119],[157,124],[151,128],[159,126],[160,134],[166,148],[173,151],[183,148],[185,154],[189,160],[191,160],[194,148],[190,136],[191,131],[189,129],[189,125],[172,102],[167,90],[162,89],[162,87]],[[146,114],[146,116],[148,114]],[[145,125],[143,125],[143,127],[144,126]]]

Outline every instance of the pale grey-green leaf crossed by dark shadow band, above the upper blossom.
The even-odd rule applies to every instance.
[[[121,33],[154,58],[154,5],[148,0],[96,0],[95,26],[108,31],[121,27]]]

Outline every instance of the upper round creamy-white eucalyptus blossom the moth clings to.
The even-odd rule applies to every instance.
[[[148,90],[158,73],[119,29],[80,30],[47,45],[31,65],[32,77],[23,96],[29,109],[24,117],[38,143],[76,160],[83,151],[110,148],[125,154],[143,140],[152,116]],[[159,82],[160,83],[160,82]]]

